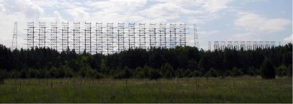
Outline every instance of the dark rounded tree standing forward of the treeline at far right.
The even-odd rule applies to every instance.
[[[261,66],[261,76],[264,79],[275,79],[275,69],[273,67],[272,61],[265,58],[262,66]]]

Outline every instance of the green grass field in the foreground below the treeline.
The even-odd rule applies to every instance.
[[[292,78],[6,79],[0,103],[292,103]]]

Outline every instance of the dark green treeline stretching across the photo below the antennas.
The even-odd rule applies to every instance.
[[[266,62],[265,62],[266,61]],[[181,78],[292,75],[292,44],[270,49],[204,51],[196,47],[129,49],[111,55],[58,52],[50,48],[11,50],[0,45],[1,78]],[[263,69],[263,70],[262,70]]]

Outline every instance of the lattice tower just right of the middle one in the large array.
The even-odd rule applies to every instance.
[[[117,29],[117,37],[118,37],[118,52],[124,51],[125,49],[125,42],[124,42],[124,23],[118,23],[118,29]]]

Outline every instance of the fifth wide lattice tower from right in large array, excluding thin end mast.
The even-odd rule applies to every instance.
[[[139,24],[139,34],[138,34],[138,37],[139,37],[139,48],[145,48],[145,24]]]

